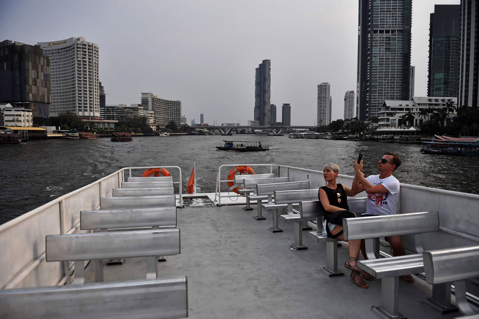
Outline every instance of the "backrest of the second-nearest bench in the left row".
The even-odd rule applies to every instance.
[[[47,235],[47,262],[166,256],[180,253],[180,229]]]

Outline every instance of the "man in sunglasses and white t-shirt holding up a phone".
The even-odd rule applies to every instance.
[[[353,193],[368,193],[368,201],[366,205],[366,214],[362,216],[379,216],[394,215],[398,212],[399,202],[399,180],[393,176],[393,172],[401,165],[401,159],[394,152],[386,152],[378,161],[378,175],[364,177],[361,172],[363,170],[363,161],[361,163],[354,162],[354,181],[352,182],[351,191]],[[404,245],[402,245],[401,236],[386,237],[386,241],[391,245],[394,256],[402,256],[405,254]],[[361,252],[366,257],[366,249],[364,240],[361,241]],[[363,271],[364,279],[372,280],[373,276]],[[411,275],[401,276],[407,283],[414,283],[415,280]]]

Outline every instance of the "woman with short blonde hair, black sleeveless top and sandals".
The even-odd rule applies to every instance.
[[[343,184],[337,184],[336,179],[339,174],[339,166],[336,164],[328,163],[323,167],[324,180],[327,182],[326,186],[319,188],[319,201],[326,212],[334,213],[341,210],[349,210],[347,206],[347,196],[355,196],[350,188]],[[323,233],[326,227],[329,228],[329,232],[332,236],[342,232],[343,226],[333,223],[324,222]],[[341,234],[337,237],[339,240],[344,240],[344,235]],[[351,270],[351,278],[360,288],[368,288],[369,285],[364,282],[361,277],[361,270],[356,265],[359,258],[359,248],[361,247],[361,240],[348,241],[349,259],[345,263],[345,267]]]

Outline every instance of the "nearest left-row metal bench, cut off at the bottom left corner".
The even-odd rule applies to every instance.
[[[186,277],[0,290],[0,318],[186,318]]]

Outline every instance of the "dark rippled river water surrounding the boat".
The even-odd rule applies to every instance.
[[[29,141],[1,145],[0,224],[123,167],[179,166],[183,191],[196,162],[198,193],[214,192],[222,164],[283,164],[322,170],[328,162],[352,175],[352,163],[363,153],[366,175],[376,173],[377,160],[394,151],[402,160],[399,181],[464,193],[479,194],[479,157],[424,154],[420,145],[379,142],[289,139],[287,136],[239,135],[232,140],[260,140],[265,152],[215,149],[224,136],[134,137],[132,142],[109,139]],[[172,170],[172,173],[174,171]]]

